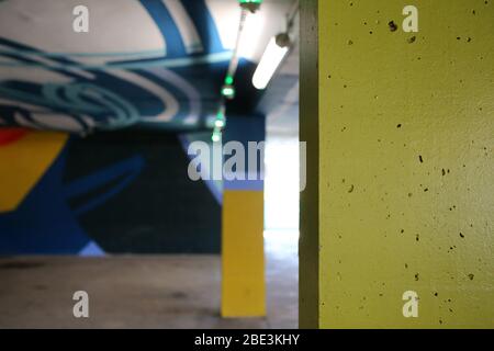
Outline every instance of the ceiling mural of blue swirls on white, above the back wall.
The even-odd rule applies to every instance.
[[[83,2],[89,33],[71,30],[79,2],[0,2],[0,126],[80,134],[201,127],[217,109],[231,58],[214,7],[205,0]],[[236,16],[237,8],[228,9]]]

